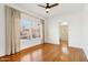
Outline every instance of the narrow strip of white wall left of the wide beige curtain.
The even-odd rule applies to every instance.
[[[6,51],[6,26],[4,26],[4,4],[0,4],[0,56],[4,55]]]

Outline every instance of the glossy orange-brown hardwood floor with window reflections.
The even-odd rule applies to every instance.
[[[87,57],[81,48],[68,47],[62,53],[60,45],[46,43],[0,57],[0,62],[87,62]]]

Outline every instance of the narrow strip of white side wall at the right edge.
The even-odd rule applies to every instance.
[[[81,30],[84,51],[88,57],[88,4],[84,6]]]

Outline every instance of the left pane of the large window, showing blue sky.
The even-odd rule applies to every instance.
[[[21,39],[30,39],[30,28],[31,28],[31,21],[29,21],[26,18],[22,18],[20,21],[20,37]]]

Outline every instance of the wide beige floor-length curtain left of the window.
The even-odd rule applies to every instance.
[[[6,6],[6,54],[20,51],[20,11]]]

